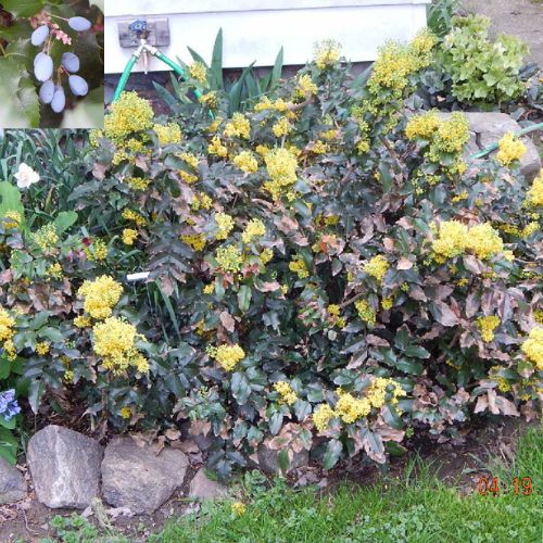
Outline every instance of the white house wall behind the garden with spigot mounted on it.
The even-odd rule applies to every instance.
[[[122,48],[117,21],[165,16],[169,40],[161,50],[191,62],[187,46],[206,62],[219,28],[225,67],[274,64],[283,47],[285,64],[304,64],[315,41],[332,38],[352,62],[374,61],[389,39],[407,41],[426,25],[430,0],[106,0],[105,73],[123,72],[132,48]],[[151,59],[149,70],[167,66]],[[139,63],[135,71],[142,71]]]

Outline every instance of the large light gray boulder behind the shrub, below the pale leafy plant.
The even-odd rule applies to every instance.
[[[475,154],[484,148],[502,139],[504,134],[517,132],[521,129],[520,125],[505,113],[481,113],[465,112],[469,122],[470,139],[466,147],[466,154]],[[442,113],[443,117],[449,117],[450,113]],[[526,144],[527,152],[520,160],[520,171],[528,179],[533,179],[541,169],[541,157],[538,148],[531,139],[525,136],[522,142]],[[489,156],[495,156],[495,151]]]

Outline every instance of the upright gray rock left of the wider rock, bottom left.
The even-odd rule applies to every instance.
[[[51,508],[85,509],[100,491],[102,447],[87,435],[51,425],[28,442],[36,497]]]

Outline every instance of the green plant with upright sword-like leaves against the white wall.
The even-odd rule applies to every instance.
[[[213,47],[211,64],[207,65],[204,59],[190,47],[188,48],[194,63],[185,64],[178,59],[179,64],[185,68],[189,76],[185,81],[178,81],[172,76],[172,84],[176,91],[173,96],[162,85],[153,83],[155,89],[165,100],[165,102],[177,111],[179,104],[190,103],[192,91],[197,89],[206,94],[204,100],[215,103],[217,109],[224,110],[226,115],[232,115],[237,111],[245,111],[252,103],[266,92],[273,91],[281,77],[282,71],[282,48],[277,53],[273,68],[265,76],[260,76],[250,64],[241,71],[241,74],[235,78],[226,77],[223,70],[223,30],[219,29]],[[201,66],[209,73],[203,80],[199,80],[191,74],[198,73]],[[194,72],[195,70],[195,72]],[[200,72],[202,73],[202,72]],[[219,105],[220,103],[220,105]]]

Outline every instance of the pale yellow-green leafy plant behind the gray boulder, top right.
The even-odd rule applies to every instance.
[[[435,90],[450,86],[458,102],[482,106],[500,105],[522,93],[520,70],[527,46],[505,35],[491,41],[489,27],[490,18],[482,15],[454,17],[437,52],[437,80],[441,83]]]

